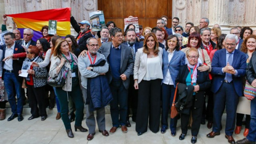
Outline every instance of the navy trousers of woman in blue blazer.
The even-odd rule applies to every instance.
[[[161,119],[162,127],[166,127],[166,128],[168,127],[168,122],[167,122],[168,113],[172,106],[174,93],[175,93],[174,85],[167,85],[164,83],[162,84],[162,119]],[[171,118],[170,129],[172,131],[176,130],[177,121],[178,119],[176,117]]]

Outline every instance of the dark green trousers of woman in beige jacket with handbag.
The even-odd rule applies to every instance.
[[[76,120],[75,125],[81,126],[84,118],[84,101],[80,86],[72,87],[71,92],[62,90],[62,87],[56,87],[57,97],[60,102],[60,114],[66,130],[71,129],[68,119],[68,97],[72,97],[76,105]]]

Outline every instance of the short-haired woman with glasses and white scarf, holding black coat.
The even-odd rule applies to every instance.
[[[184,90],[186,92],[185,105],[183,105],[183,109],[179,107],[181,113],[181,134],[179,139],[183,140],[187,135],[189,116],[191,112],[193,119],[191,125],[191,143],[196,143],[197,134],[201,125],[203,105],[205,102],[205,90],[210,87],[211,81],[207,71],[198,70],[198,67],[202,64],[201,61],[198,61],[198,50],[191,47],[186,51],[186,55],[188,63],[187,65],[180,67],[179,75],[175,81],[176,83],[179,83],[179,91]],[[182,87],[184,87],[184,89],[182,89]],[[177,106],[179,105],[181,104],[177,103]]]

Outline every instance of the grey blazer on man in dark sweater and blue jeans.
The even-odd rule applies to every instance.
[[[100,49],[98,50],[99,53],[105,55],[107,61],[108,61],[108,56],[111,49],[111,44],[112,42],[102,43]],[[133,65],[134,65],[134,60],[132,58],[131,47],[121,44],[121,74],[125,74],[127,77],[127,79],[123,81],[123,84],[126,90],[129,88],[130,75],[132,74],[132,71],[133,71]],[[108,82],[111,83],[113,76],[111,74],[110,67],[107,73],[107,77],[109,80]]]

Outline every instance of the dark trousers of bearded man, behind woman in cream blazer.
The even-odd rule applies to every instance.
[[[138,90],[134,88],[133,75],[130,75],[130,86],[128,91],[128,109],[126,120],[129,120],[130,108],[132,109],[132,121],[136,122],[137,107],[138,107]]]

